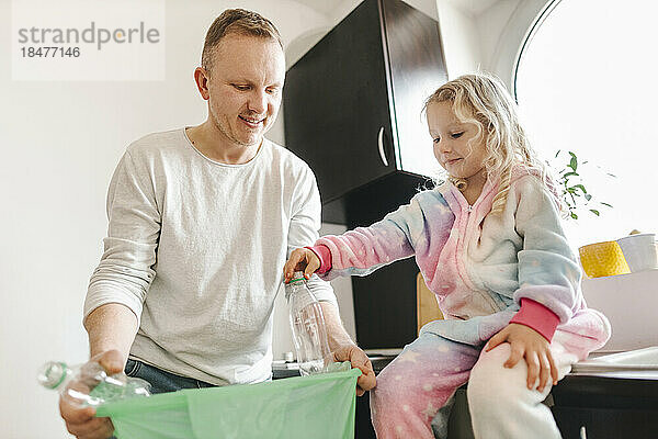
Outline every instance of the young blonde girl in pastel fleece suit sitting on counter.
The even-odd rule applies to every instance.
[[[466,382],[476,438],[559,438],[542,402],[604,345],[610,324],[582,299],[558,195],[498,79],[450,81],[426,111],[447,180],[370,227],[294,250],[285,279],[366,275],[416,256],[445,319],[427,324],[377,376],[378,438],[445,438]]]

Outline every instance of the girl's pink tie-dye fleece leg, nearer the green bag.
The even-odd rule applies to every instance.
[[[478,348],[431,333],[422,333],[405,347],[379,373],[371,392],[377,438],[434,438],[434,415],[468,381],[478,354]],[[447,423],[447,410],[442,412]],[[436,428],[441,430],[441,426]]]

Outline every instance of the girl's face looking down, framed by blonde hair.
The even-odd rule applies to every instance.
[[[431,102],[427,109],[428,126],[434,143],[434,157],[451,177],[468,180],[485,168],[485,138],[477,136],[477,125],[460,122],[452,102]]]

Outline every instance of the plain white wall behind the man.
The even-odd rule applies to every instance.
[[[12,81],[9,31],[0,38],[0,438],[68,437],[56,395],[37,387],[35,372],[49,359],[87,358],[82,302],[102,252],[112,171],[129,142],[205,120],[192,72],[208,25],[237,5],[272,19],[285,43],[332,25],[290,0],[167,1],[166,80],[143,82]],[[4,30],[10,8],[0,0]],[[269,137],[282,142],[281,126]],[[339,288],[354,334],[351,288]],[[281,313],[276,326],[287,330]],[[290,350],[286,340],[276,334],[275,352]]]

